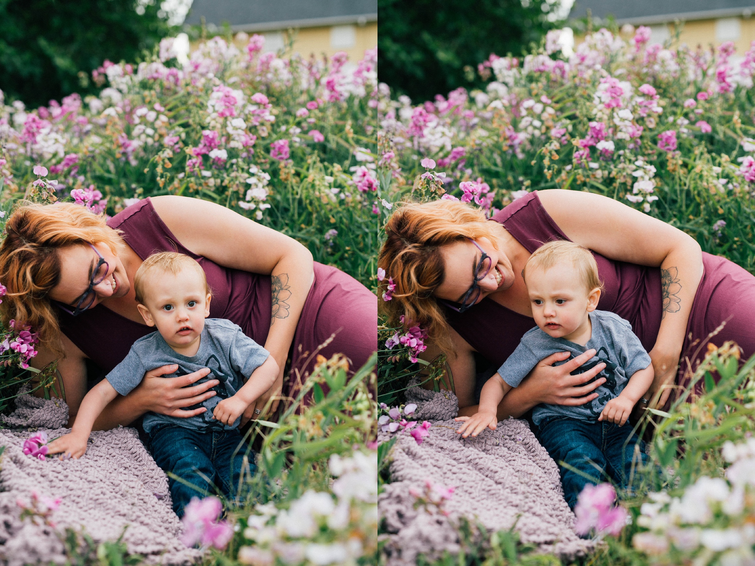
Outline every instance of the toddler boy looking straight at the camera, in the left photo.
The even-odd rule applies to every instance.
[[[128,395],[139,385],[147,371],[171,364],[178,365],[178,375],[210,368],[199,383],[217,379],[220,385],[214,388],[217,395],[202,402],[207,411],[188,418],[150,412],[143,420],[156,463],[181,478],[168,480],[180,517],[190,499],[204,497],[213,484],[227,497],[236,494],[245,454],[241,416],[273,385],[278,365],[233,322],[205,321],[212,295],[193,258],[174,252],[149,256],[134,275],[134,291],[144,322],[157,331],[134,342],[123,361],[87,393],[71,432],[52,442],[50,453],[81,457],[94,420],[116,395]]]

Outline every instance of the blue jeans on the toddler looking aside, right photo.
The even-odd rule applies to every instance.
[[[559,464],[564,497],[572,509],[585,485],[599,484],[606,481],[606,476],[621,488],[628,486],[635,458],[634,445],[638,442],[639,460],[635,458],[635,473],[647,462],[645,443],[632,434],[630,423],[618,426],[606,421],[590,423],[570,417],[551,417],[538,429],[538,440]],[[589,478],[562,466],[561,462]]]

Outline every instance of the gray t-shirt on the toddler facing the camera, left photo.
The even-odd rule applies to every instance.
[[[196,355],[187,358],[168,346],[159,332],[147,334],[134,342],[123,361],[107,374],[106,379],[121,395],[128,395],[131,389],[141,383],[147,371],[162,365],[178,364],[176,373],[163,377],[178,377],[202,368],[210,368],[210,373],[194,385],[208,380],[220,380],[220,384],[212,388],[217,392],[216,395],[185,409],[189,411],[206,407],[207,411],[188,418],[168,417],[149,412],[144,415],[143,427],[146,432],[159,423],[177,424],[187,429],[199,430],[230,430],[239,426],[241,417],[236,419],[232,426],[226,426],[212,418],[212,411],[220,401],[236,395],[244,384],[243,380],[267,360],[270,352],[247,337],[239,326],[224,318],[207,318],[199,340]]]

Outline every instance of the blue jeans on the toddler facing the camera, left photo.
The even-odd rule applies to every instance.
[[[168,476],[173,510],[179,517],[192,497],[205,497],[219,491],[235,499],[239,477],[247,454],[238,429],[199,431],[183,426],[161,424],[149,431],[149,449],[165,472],[172,472],[187,483]],[[239,448],[236,456],[233,452]],[[254,452],[249,450],[249,467],[254,473]]]

